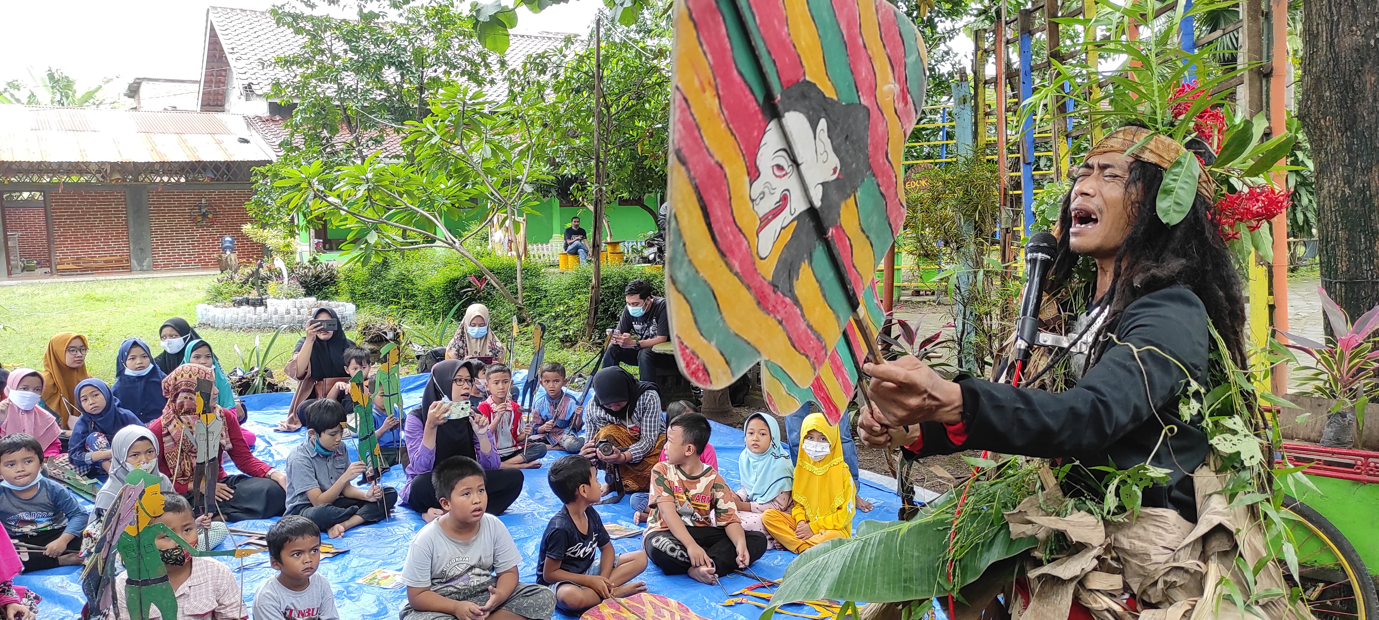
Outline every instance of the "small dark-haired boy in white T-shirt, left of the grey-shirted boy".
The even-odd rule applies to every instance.
[[[277,577],[254,595],[254,620],[339,620],[335,594],[321,564],[321,529],[306,517],[287,515],[268,529],[268,554]]]

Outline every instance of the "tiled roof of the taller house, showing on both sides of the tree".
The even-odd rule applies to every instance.
[[[279,26],[268,11],[210,7],[207,19],[215,28],[225,55],[234,69],[236,84],[250,92],[265,94],[273,80],[291,80],[292,72],[274,69],[273,58],[294,54],[305,37]],[[565,37],[552,34],[510,34],[507,63],[516,66],[528,55],[560,45]],[[490,88],[492,96],[503,96],[503,87]]]

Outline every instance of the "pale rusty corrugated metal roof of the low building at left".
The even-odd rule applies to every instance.
[[[0,105],[0,161],[272,161],[243,116]]]

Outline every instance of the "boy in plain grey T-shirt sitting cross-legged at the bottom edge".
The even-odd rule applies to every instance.
[[[430,475],[445,514],[416,532],[407,550],[400,620],[550,619],[556,594],[517,583],[517,544],[498,517],[484,513],[484,468],[467,456],[451,456]]]

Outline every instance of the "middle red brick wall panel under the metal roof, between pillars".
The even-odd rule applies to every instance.
[[[58,273],[128,271],[130,223],[124,192],[50,192]],[[92,265],[123,259],[121,265]],[[72,266],[73,269],[63,269]]]

